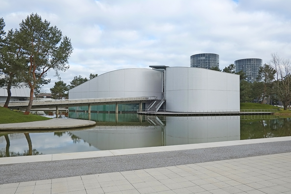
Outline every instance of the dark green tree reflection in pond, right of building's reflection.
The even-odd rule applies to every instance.
[[[291,136],[291,118],[241,120],[240,139]]]

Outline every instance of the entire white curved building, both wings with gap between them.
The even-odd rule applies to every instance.
[[[71,90],[69,99],[165,97],[169,111],[239,110],[239,75],[195,67],[151,66],[99,75]]]

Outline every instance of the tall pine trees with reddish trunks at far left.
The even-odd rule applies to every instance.
[[[67,36],[37,14],[32,13],[22,20],[19,30],[11,29],[6,33],[4,27],[4,19],[0,18],[0,74],[3,74],[0,87],[6,88],[8,93],[4,107],[8,107],[10,89],[24,84],[30,88],[29,105],[24,113],[28,115],[34,90],[50,82],[45,79],[49,70],[54,69],[59,77],[58,71],[69,68],[73,47]]]

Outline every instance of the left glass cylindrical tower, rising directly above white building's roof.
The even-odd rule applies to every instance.
[[[210,69],[211,67],[219,68],[219,55],[214,53],[201,53],[190,57],[190,67],[200,67]]]

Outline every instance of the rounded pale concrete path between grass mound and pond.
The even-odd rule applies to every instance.
[[[89,120],[55,118],[45,121],[0,124],[0,130],[67,129],[76,127],[90,127],[94,126],[95,124],[96,124],[95,121]]]

